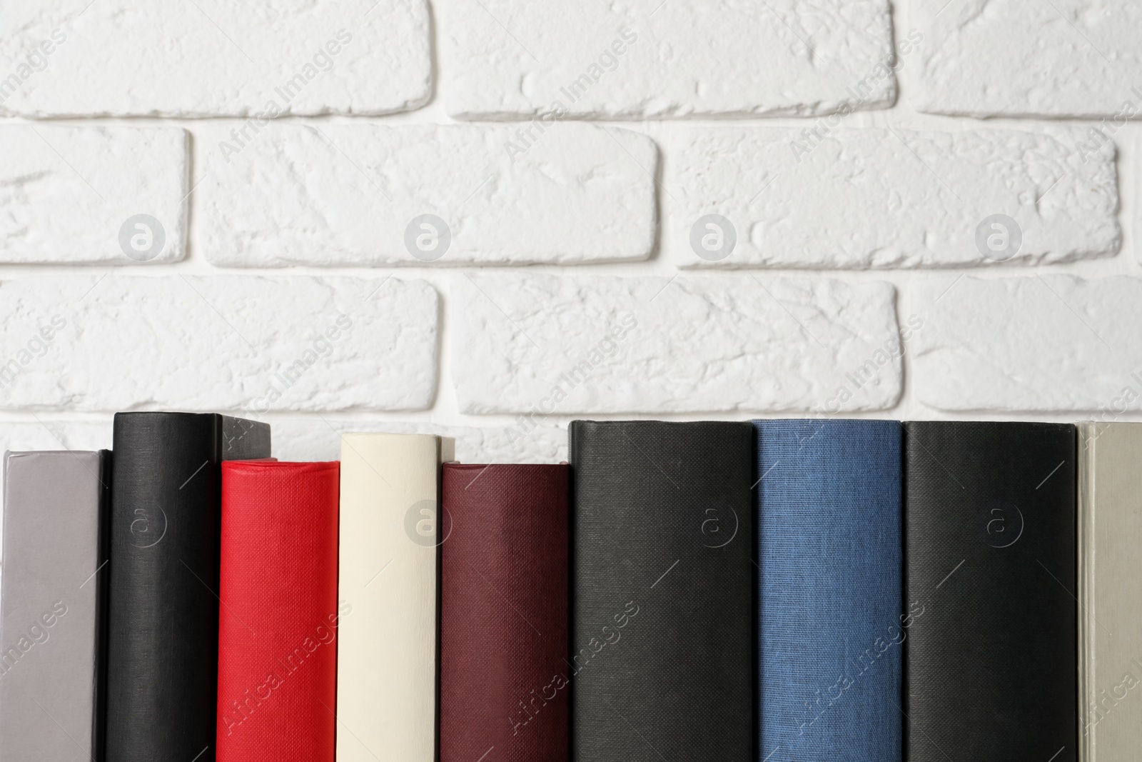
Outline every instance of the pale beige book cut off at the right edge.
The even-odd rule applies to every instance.
[[[1079,426],[1079,759],[1142,759],[1142,424]]]

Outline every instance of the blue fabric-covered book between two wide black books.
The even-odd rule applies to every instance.
[[[899,761],[900,424],[754,425],[761,757]]]

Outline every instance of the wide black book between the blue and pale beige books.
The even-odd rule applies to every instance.
[[[1075,426],[903,426],[906,759],[1072,762]]]

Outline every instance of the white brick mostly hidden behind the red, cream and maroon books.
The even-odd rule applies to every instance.
[[[515,424],[493,428],[344,416],[266,417],[265,420],[272,430],[274,457],[282,460],[337,460],[340,458],[340,435],[345,432],[451,436],[456,440],[456,459],[460,463],[558,463],[568,458],[568,433],[562,426],[538,426],[524,433]]]

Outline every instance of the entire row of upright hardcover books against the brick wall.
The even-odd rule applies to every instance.
[[[130,412],[9,452],[0,760],[1118,762],[1142,424],[574,422],[570,464]]]

